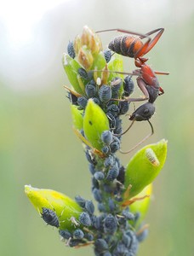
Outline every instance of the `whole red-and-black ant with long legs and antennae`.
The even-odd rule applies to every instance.
[[[147,32],[146,34],[131,32],[128,30],[120,29],[120,28],[102,30],[102,31],[98,31],[97,33],[111,32],[111,31],[124,32],[126,34],[123,36],[118,36],[114,38],[111,41],[111,43],[108,45],[109,49],[111,49],[113,52],[119,55],[134,58],[135,66],[140,67],[139,69],[134,70],[132,73],[117,72],[117,71],[115,71],[115,73],[137,76],[137,79],[136,79],[137,84],[140,90],[144,94],[144,97],[131,98],[130,96],[127,96],[127,97],[125,96],[124,99],[117,99],[117,101],[141,102],[141,101],[148,100],[148,102],[141,105],[139,108],[137,108],[134,111],[134,113],[131,114],[129,119],[132,120],[132,123],[129,125],[126,131],[117,135],[117,136],[122,136],[132,127],[132,125],[134,125],[134,121],[147,120],[151,125],[151,122],[149,121],[149,119],[151,119],[151,116],[155,113],[155,107],[153,103],[156,101],[157,96],[160,96],[164,93],[163,88],[159,84],[156,74],[168,75],[168,73],[153,71],[149,65],[145,64],[145,62],[148,61],[148,59],[144,57],[144,55],[147,54],[155,46],[155,44],[157,44],[157,41],[163,34],[164,28],[157,28],[151,32]],[[150,36],[154,33],[157,33],[157,34],[155,35],[154,38],[151,39]],[[143,38],[147,38],[145,43],[142,42]],[[154,133],[154,130],[153,130],[153,126],[151,125],[151,134],[149,134],[143,140],[141,140],[140,143],[138,143],[134,148],[138,147],[141,143],[144,143],[145,140],[148,137],[151,137],[153,133]],[[121,152],[129,153],[134,148],[131,148],[127,152],[123,152],[123,151]]]

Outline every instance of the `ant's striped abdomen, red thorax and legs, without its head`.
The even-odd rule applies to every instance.
[[[107,30],[102,30],[98,32],[110,32],[110,31],[125,32],[129,34],[129,35],[126,34],[126,35],[118,36],[117,38],[114,38],[108,47],[109,49],[111,49],[112,51],[114,51],[119,55],[134,58],[135,66],[140,67],[140,69],[134,70],[132,74],[138,76],[137,84],[140,87],[140,90],[145,95],[144,98],[142,97],[141,98],[125,98],[124,100],[121,100],[121,101],[128,100],[128,102],[140,102],[140,101],[149,100],[149,92],[147,90],[146,85],[149,85],[155,88],[156,90],[158,90],[158,95],[162,95],[164,91],[163,91],[163,88],[160,87],[159,85],[156,74],[168,74],[168,73],[153,71],[150,66],[145,64],[145,62],[148,59],[144,58],[143,56],[146,53],[148,53],[154,47],[155,44],[157,44],[157,41],[163,34],[164,28],[157,28],[151,32],[147,32],[146,34],[131,32],[128,30],[120,29],[120,28],[107,29]],[[151,39],[150,35],[156,32],[157,32],[157,35]],[[141,39],[143,38],[147,38],[147,41],[145,42],[145,44],[141,41]],[[117,73],[120,73],[120,72],[117,72]],[[123,73],[123,74],[128,74],[128,73]]]

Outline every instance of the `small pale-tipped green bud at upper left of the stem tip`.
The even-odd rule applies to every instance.
[[[63,67],[66,71],[66,75],[73,86],[73,88],[80,94],[85,94],[84,88],[82,84],[80,84],[80,76],[77,73],[77,70],[81,68],[82,66],[74,59],[72,59],[69,55],[66,53],[63,55]],[[84,82],[83,82],[84,83]],[[85,84],[87,82],[85,81]]]

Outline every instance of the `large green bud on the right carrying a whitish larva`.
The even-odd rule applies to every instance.
[[[125,188],[132,186],[128,199],[140,193],[142,189],[157,177],[167,156],[167,141],[161,140],[159,143],[151,144],[141,148],[134,155],[126,167]]]

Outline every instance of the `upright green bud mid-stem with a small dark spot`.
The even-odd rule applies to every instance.
[[[89,99],[83,117],[83,131],[94,148],[100,150],[103,147],[100,136],[103,131],[109,129],[106,113],[92,99]]]

